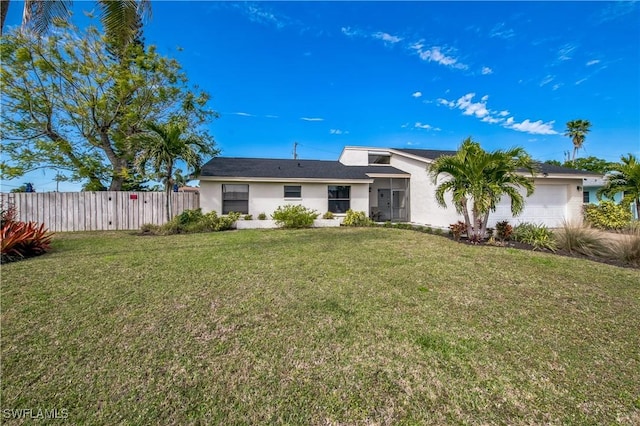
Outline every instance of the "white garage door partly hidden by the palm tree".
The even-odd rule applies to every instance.
[[[550,228],[560,227],[567,215],[567,188],[567,185],[536,185],[533,195],[525,198],[524,211],[515,218],[511,215],[509,198],[504,197],[497,210],[489,216],[489,222],[495,225],[508,220],[512,225],[531,222]]]

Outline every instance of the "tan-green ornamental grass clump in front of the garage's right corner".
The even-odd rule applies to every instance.
[[[609,240],[593,228],[563,223],[555,233],[558,248],[590,257],[611,255]]]

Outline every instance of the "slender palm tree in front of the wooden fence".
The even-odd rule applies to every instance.
[[[203,155],[215,154],[207,139],[199,134],[188,133],[184,122],[173,120],[166,124],[147,123],[147,132],[138,136],[142,150],[136,160],[141,173],[146,173],[148,165],[155,176],[164,183],[167,193],[167,221],[171,220],[171,193],[177,161],[184,161],[194,173],[200,169]]]

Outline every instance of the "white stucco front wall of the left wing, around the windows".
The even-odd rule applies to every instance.
[[[369,210],[369,184],[368,183],[315,183],[315,182],[222,182],[200,181],[200,207],[203,213],[210,211],[222,212],[222,185],[248,184],[249,185],[249,214],[254,219],[260,213],[267,217],[279,207],[287,204],[301,204],[309,209],[316,210],[320,215],[328,210],[328,186],[351,186],[351,209],[368,212]],[[301,198],[284,198],[285,185],[300,185]]]

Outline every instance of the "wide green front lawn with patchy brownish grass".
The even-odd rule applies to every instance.
[[[1,291],[5,424],[640,423],[637,269],[384,228],[79,233]]]

